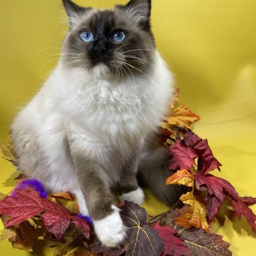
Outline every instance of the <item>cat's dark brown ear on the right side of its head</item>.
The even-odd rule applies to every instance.
[[[143,29],[150,28],[151,0],[130,0],[125,10]]]

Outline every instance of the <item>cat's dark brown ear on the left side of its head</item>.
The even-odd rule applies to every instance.
[[[91,10],[91,8],[80,7],[71,0],[62,0],[62,2],[69,16],[70,26],[74,25],[79,20],[80,15],[86,12],[86,10]]]

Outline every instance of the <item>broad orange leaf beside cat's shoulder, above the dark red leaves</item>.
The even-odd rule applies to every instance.
[[[172,111],[171,116],[165,118],[168,124],[187,129],[191,129],[191,124],[199,119],[200,117],[192,113],[192,111],[187,108],[187,105],[176,108]]]

